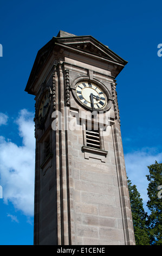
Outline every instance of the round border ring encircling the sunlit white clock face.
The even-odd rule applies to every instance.
[[[103,92],[103,95],[105,94],[105,96],[106,96],[106,104],[105,104],[105,106],[103,106],[102,108],[93,108],[92,109],[92,107],[89,107],[85,103],[83,103],[79,99],[78,94],[76,93],[76,87],[79,84],[81,84],[81,83],[93,84],[94,86],[98,87],[100,89],[100,91]],[[88,80],[88,79],[77,80],[77,82],[75,82],[75,83],[73,82],[73,85],[71,86],[71,88],[72,88],[72,92],[73,92],[73,95],[74,95],[76,101],[79,102],[81,104],[81,106],[83,106],[84,108],[86,108],[86,109],[88,109],[90,111],[96,111],[96,112],[101,112],[102,111],[102,112],[105,112],[105,111],[108,111],[111,108],[111,106],[112,106],[111,95],[109,95],[109,92],[107,92],[108,90],[105,88],[105,86],[100,84],[98,81],[92,81],[92,80]],[[82,95],[82,94],[80,94],[80,95]]]

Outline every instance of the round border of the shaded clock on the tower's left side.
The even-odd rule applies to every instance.
[[[41,111],[41,106],[43,104],[43,100],[44,100],[44,97],[47,95],[47,99],[48,99],[48,107],[47,107],[47,112],[44,114],[44,117],[42,118],[42,120],[40,120],[40,111]],[[38,104],[38,110],[37,110],[37,118],[38,118],[38,124],[40,124],[40,126],[43,126],[44,125],[44,122],[46,121],[46,118],[47,118],[47,115],[48,115],[48,112],[49,112],[49,108],[50,108],[50,104],[51,104],[51,93],[50,93],[50,90],[47,89],[43,92],[41,98],[40,98],[40,102]]]

